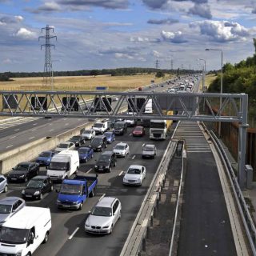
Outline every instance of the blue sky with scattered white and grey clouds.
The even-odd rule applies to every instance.
[[[255,22],[256,0],[0,0],[0,72],[43,71],[47,25],[53,70],[218,70],[254,54]]]

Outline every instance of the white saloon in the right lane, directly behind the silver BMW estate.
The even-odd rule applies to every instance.
[[[126,171],[122,184],[141,186],[144,178],[146,178],[145,166],[132,165]]]

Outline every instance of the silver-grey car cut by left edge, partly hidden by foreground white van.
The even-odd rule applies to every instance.
[[[11,216],[16,214],[26,206],[25,200],[18,197],[6,197],[0,200],[0,225],[6,222]]]

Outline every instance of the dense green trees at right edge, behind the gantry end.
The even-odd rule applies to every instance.
[[[223,66],[223,93],[249,95],[249,122],[256,127],[256,39],[254,39],[255,54],[237,64],[226,63]],[[220,92],[221,74],[210,83],[208,92]]]

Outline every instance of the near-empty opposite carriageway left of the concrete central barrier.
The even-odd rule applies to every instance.
[[[40,126],[34,126],[37,122],[26,124],[26,126],[23,127],[23,130],[20,130],[16,134],[10,134],[9,136],[0,138],[0,153],[6,151],[6,149],[13,150],[28,142],[34,142],[39,138],[57,136],[68,130],[74,129],[76,126],[86,126],[87,122],[88,120],[86,118],[58,118],[51,122],[46,121],[46,123]],[[14,127],[12,127],[12,129],[17,130],[17,128]],[[0,132],[0,134],[2,134],[2,132]]]

